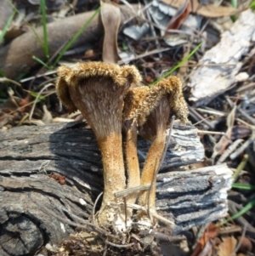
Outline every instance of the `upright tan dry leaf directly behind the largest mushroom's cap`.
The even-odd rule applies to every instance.
[[[105,29],[103,60],[116,63],[121,60],[118,54],[117,34],[121,24],[121,10],[113,3],[101,1],[101,19]]]

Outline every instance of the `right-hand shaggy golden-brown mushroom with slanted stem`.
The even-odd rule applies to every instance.
[[[124,117],[126,120],[135,119],[139,126],[139,134],[151,140],[144,168],[141,175],[141,185],[150,185],[149,193],[140,193],[139,204],[150,206],[155,210],[156,180],[154,175],[159,168],[164,151],[166,130],[170,116],[175,115],[181,122],[187,122],[188,111],[182,94],[182,84],[178,77],[168,77],[156,83],[152,88],[139,87],[128,91],[125,97]]]

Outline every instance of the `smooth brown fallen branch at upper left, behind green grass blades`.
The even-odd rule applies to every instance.
[[[133,9],[136,9],[133,5]],[[123,21],[132,17],[133,10],[127,6],[121,7]],[[94,11],[77,14],[70,17],[65,17],[63,20],[58,20],[47,25],[48,33],[48,54],[52,56],[65,43],[68,43],[71,38],[81,29],[81,27],[91,18]],[[35,29],[37,37],[43,42],[42,26]],[[94,17],[81,36],[77,38],[72,47],[84,45],[89,46],[89,43],[99,41],[99,37],[104,35],[104,28],[99,17],[99,14]],[[5,77],[15,78],[19,74],[30,71],[31,67],[37,65],[37,61],[32,57],[36,56],[40,60],[45,60],[40,43],[38,43],[35,33],[27,31],[20,37],[15,38],[7,46],[0,48],[0,70],[3,71]]]

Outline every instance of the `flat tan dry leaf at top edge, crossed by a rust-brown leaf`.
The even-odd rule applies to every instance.
[[[180,8],[186,0],[161,0],[163,3],[167,3],[175,8]],[[238,10],[233,7],[216,6],[214,4],[200,5],[197,0],[192,0],[191,12],[200,14],[207,18],[219,18],[224,16],[232,16],[238,13]]]

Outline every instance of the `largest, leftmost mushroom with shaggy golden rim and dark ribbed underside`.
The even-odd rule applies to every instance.
[[[131,83],[141,80],[139,71],[133,65],[90,62],[77,63],[72,68],[60,66],[58,75],[59,99],[69,111],[82,112],[98,141],[105,184],[99,223],[112,221],[116,213],[107,203],[116,202],[114,192],[126,186],[122,155],[123,98]]]

